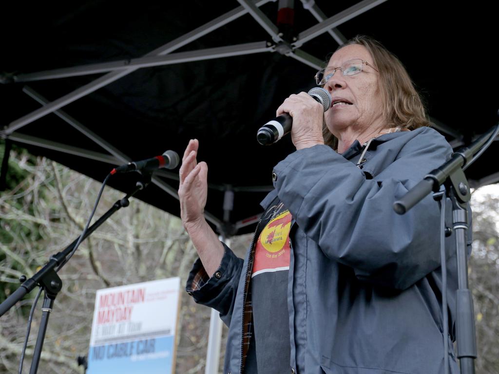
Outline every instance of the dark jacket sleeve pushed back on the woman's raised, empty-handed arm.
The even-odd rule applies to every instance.
[[[224,243],[222,243],[224,244]],[[238,291],[243,260],[224,244],[225,252],[220,267],[210,278],[198,258],[187,279],[186,291],[196,303],[217,310],[220,318],[229,326]]]

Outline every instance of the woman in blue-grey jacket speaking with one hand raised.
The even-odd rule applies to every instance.
[[[198,141],[184,154],[181,216],[199,254],[187,291],[229,326],[224,373],[440,374],[443,308],[458,373],[456,258],[449,238],[443,306],[438,205],[428,196],[404,215],[392,209],[452,149],[379,42],[353,38],[315,79],[331,94],[325,113],[304,92],[277,108],[293,118],[296,151],[273,169],[245,259],[204,218]]]

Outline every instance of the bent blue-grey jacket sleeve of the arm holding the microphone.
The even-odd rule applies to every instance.
[[[421,132],[367,179],[353,163],[318,145],[277,164],[274,185],[327,257],[352,267],[361,280],[405,289],[440,267],[440,211],[431,194],[404,215],[394,212],[393,202],[451,151],[437,132]]]

